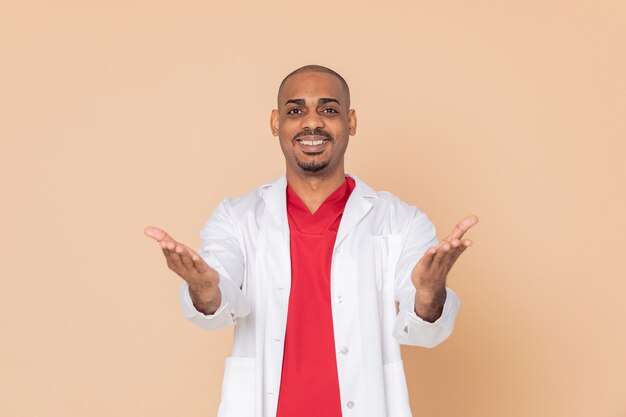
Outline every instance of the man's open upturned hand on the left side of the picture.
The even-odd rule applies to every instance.
[[[213,314],[222,302],[218,287],[220,276],[194,250],[174,240],[158,227],[146,227],[146,236],[153,238],[163,250],[167,266],[189,284],[189,295],[196,309]]]

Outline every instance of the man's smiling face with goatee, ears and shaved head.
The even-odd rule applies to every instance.
[[[343,171],[348,137],[356,133],[356,114],[349,109],[339,79],[306,72],[287,79],[270,126],[280,141],[288,172],[327,176]]]

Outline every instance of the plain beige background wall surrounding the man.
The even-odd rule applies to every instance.
[[[347,168],[445,235],[462,307],[403,350],[416,416],[626,416],[622,1],[0,3],[0,415],[211,416],[231,331],[186,322],[142,234],[190,245],[283,172],[309,63],[350,83]]]

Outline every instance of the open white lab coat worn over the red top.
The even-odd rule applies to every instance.
[[[459,300],[447,289],[434,323],[415,314],[411,270],[438,243],[435,228],[417,208],[350,176],[356,186],[331,269],[342,413],[409,417],[400,343],[441,343],[452,332]],[[203,227],[199,253],[220,274],[222,304],[215,314],[198,312],[187,284],[180,288],[184,315],[193,323],[204,329],[235,324],[219,417],[276,416],[291,285],[286,185],[282,176],[225,199]]]

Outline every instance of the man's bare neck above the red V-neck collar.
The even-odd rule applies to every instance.
[[[311,213],[315,213],[324,200],[345,180],[343,169],[330,175],[298,175],[287,170],[287,183]]]

